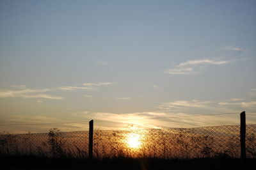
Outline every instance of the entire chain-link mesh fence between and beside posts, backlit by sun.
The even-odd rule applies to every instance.
[[[246,156],[256,158],[256,124],[246,125]],[[240,157],[240,127],[127,128],[93,131],[93,157]],[[88,130],[0,135],[1,155],[88,157]]]

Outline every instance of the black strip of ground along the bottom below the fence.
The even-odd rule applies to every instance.
[[[190,160],[163,160],[159,158],[105,158],[85,160],[71,158],[0,157],[0,169],[256,169],[256,159],[197,158]]]

